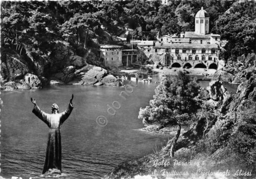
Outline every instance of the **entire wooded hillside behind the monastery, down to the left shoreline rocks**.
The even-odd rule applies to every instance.
[[[201,7],[210,15],[211,33],[229,40],[222,58],[237,60],[255,50],[253,1],[2,2],[2,83],[27,73],[47,81],[69,65],[75,70],[88,63],[99,65],[99,45],[122,44],[112,37],[126,30],[128,41],[131,35],[151,40],[157,32],[194,31],[194,16]]]

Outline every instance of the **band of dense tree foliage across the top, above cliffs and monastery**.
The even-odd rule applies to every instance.
[[[56,40],[73,48],[90,48],[94,39],[109,43],[127,27],[134,39],[194,31],[195,14],[204,7],[210,30],[229,40],[225,59],[255,50],[255,3],[253,1],[27,1],[2,4],[4,48],[23,43],[29,50],[46,55]],[[102,38],[102,29],[110,38]],[[14,47],[15,48],[15,47]]]

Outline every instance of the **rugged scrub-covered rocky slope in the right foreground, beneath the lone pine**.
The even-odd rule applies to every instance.
[[[207,118],[199,117],[194,125],[183,133],[175,147],[174,158],[170,158],[169,153],[173,142],[171,139],[161,150],[124,162],[104,178],[129,178],[135,175],[167,178],[161,170],[187,170],[193,174],[193,171],[199,169],[212,171],[212,176],[216,174],[217,178],[220,177],[218,171],[226,170],[231,174],[237,170],[248,171],[251,177],[256,176],[256,65],[253,64],[253,58],[252,56],[250,60],[244,61],[239,73],[236,73],[239,66],[237,64],[229,69],[229,72],[232,71],[232,77],[229,78],[231,81],[242,77],[236,94],[227,91],[219,80],[221,77],[211,81],[208,87],[200,89],[197,99],[208,104],[210,115]],[[224,71],[225,69],[222,69],[217,72],[216,76],[221,74],[223,77],[226,73]],[[174,160],[193,160],[201,165],[192,168],[175,167]],[[155,161],[159,161],[160,165],[156,165]],[[162,161],[169,165],[164,166]],[[191,174],[189,176],[192,176]],[[232,178],[232,175],[227,176],[229,177]]]

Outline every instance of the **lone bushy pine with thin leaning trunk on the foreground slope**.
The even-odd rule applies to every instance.
[[[194,99],[199,93],[199,84],[193,79],[189,79],[184,73],[162,83],[156,88],[154,99],[150,105],[140,108],[139,118],[144,123],[158,123],[162,126],[177,125],[177,135],[171,147],[171,155],[174,156],[174,147],[180,136],[181,124],[193,119],[198,102]]]

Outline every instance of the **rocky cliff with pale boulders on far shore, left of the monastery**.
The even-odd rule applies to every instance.
[[[79,48],[74,49],[63,41],[55,41],[52,50],[41,56],[42,52],[34,52],[25,44],[11,47],[2,49],[2,89],[41,88],[51,80],[62,83],[80,81],[76,84],[82,85],[121,85],[108,71],[100,67],[93,68],[95,65],[87,63],[88,59],[92,62],[97,58],[91,50],[83,49],[84,52],[80,52],[82,56],[78,56],[74,50]]]

